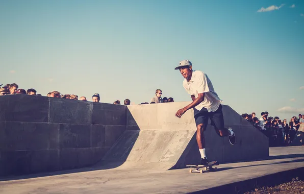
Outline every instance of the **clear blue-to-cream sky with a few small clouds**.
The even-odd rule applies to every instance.
[[[304,113],[304,1],[0,0],[0,84],[190,101],[181,60],[239,114]],[[259,116],[260,117],[260,116]]]

